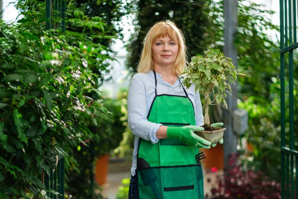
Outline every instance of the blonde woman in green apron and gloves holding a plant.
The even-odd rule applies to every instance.
[[[128,94],[128,123],[136,135],[130,199],[204,198],[199,148],[211,142],[194,133],[204,130],[204,119],[200,95],[193,86],[186,91],[178,78],[186,63],[176,25],[151,27]]]

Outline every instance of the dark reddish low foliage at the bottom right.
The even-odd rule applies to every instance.
[[[239,155],[230,157],[231,169],[218,177],[218,188],[212,189],[208,199],[281,199],[281,184],[261,172],[239,164]]]

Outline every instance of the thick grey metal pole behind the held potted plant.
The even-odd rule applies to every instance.
[[[237,69],[237,48],[234,45],[235,35],[237,32],[238,16],[237,16],[238,0],[224,0],[224,55],[231,58]],[[237,88],[236,84],[230,84],[232,96],[228,95],[225,99],[228,108],[234,111],[237,108]],[[224,167],[228,168],[229,156],[237,153],[237,135],[233,132],[232,116],[229,111],[224,111]]]

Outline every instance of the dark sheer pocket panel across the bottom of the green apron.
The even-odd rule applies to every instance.
[[[140,199],[204,199],[199,165],[139,169],[138,187]]]

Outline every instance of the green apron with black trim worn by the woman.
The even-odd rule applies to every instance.
[[[164,126],[196,125],[194,107],[183,87],[185,96],[157,95],[148,120]],[[181,84],[181,82],[180,82]],[[203,171],[199,149],[174,139],[158,143],[140,139],[137,159],[139,199],[204,199]]]

